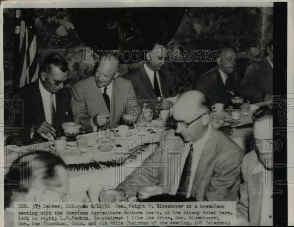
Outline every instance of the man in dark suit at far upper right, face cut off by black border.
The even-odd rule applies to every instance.
[[[273,94],[273,39],[268,43],[268,56],[248,66],[244,79],[240,81],[239,93],[250,101],[258,103],[272,99]]]

